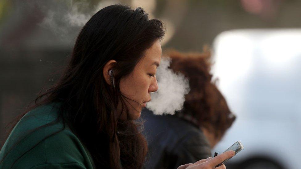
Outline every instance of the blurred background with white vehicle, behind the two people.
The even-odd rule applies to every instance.
[[[162,20],[163,51],[212,47],[212,73],[237,120],[214,152],[241,141],[227,168],[300,168],[300,0],[0,0],[0,141],[56,81],[80,28],[111,4]]]

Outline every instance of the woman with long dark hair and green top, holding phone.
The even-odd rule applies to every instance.
[[[163,35],[142,8],[112,5],[94,14],[60,80],[11,131],[0,168],[141,168],[147,146],[133,120],[158,89]]]

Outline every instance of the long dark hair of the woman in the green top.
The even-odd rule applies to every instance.
[[[107,6],[80,31],[71,60],[60,80],[38,96],[30,111],[40,105],[61,102],[60,118],[87,147],[98,168],[141,168],[146,140],[132,120],[119,121],[119,101],[129,117],[120,79],[129,75],[143,52],[164,35],[163,24],[148,19],[142,8]],[[103,67],[111,59],[115,88],[105,82]]]

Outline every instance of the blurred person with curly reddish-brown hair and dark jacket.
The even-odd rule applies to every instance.
[[[146,168],[177,168],[211,156],[211,149],[232,125],[235,116],[212,82],[210,52],[168,52],[170,69],[189,79],[183,110],[175,115],[142,111],[148,143]]]

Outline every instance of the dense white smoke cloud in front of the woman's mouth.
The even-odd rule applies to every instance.
[[[171,59],[162,57],[156,77],[159,89],[151,94],[147,108],[155,115],[175,114],[183,108],[185,95],[190,91],[188,79],[169,69]]]

